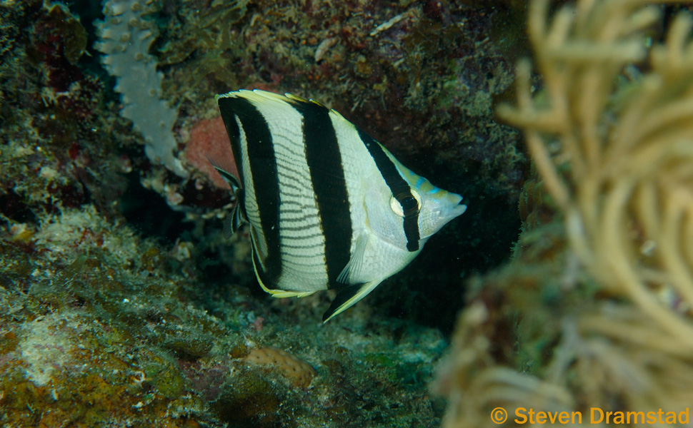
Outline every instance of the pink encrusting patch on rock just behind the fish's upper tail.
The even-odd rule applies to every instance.
[[[229,136],[226,135],[221,117],[199,121],[190,130],[190,140],[186,145],[185,158],[191,165],[205,173],[218,188],[229,189],[229,184],[216,172],[209,159],[224,170],[238,177],[234,153],[231,151]]]

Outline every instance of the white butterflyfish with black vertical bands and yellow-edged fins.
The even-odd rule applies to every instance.
[[[210,160],[237,201],[224,235],[249,223],[257,281],[274,297],[338,290],[323,322],[467,209],[321,103],[259,89],[215,99],[238,171]]]

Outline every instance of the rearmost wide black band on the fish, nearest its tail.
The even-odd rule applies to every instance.
[[[226,102],[222,104],[222,101]],[[219,98],[219,109],[222,115],[226,108],[228,108],[227,112],[239,118],[246,136],[246,150],[253,179],[253,190],[258,206],[260,224],[262,225],[262,235],[267,246],[266,258],[259,261],[262,262],[264,271],[269,274],[266,280],[269,283],[276,282],[281,275],[281,255],[279,253],[281,248],[279,240],[279,203],[281,203],[281,195],[279,193],[279,178],[277,176],[271,132],[264,116],[250,101],[244,98]],[[236,122],[234,117],[230,119],[229,122]],[[227,123],[226,119],[224,119],[224,123]],[[243,168],[238,169],[240,171]]]

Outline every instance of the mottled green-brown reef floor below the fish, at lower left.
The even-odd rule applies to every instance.
[[[304,317],[285,325],[234,288],[231,312],[215,317],[195,300],[199,273],[180,245],[164,250],[89,205],[38,224],[0,236],[4,427],[439,422],[424,395],[439,332],[399,323],[394,337],[392,322],[353,316],[349,330],[324,328],[317,301],[308,314],[294,305]]]

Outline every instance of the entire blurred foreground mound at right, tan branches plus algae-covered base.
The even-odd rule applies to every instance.
[[[517,106],[497,113],[524,131],[543,183],[525,185],[524,212],[542,215],[509,265],[472,282],[435,385],[444,427],[497,426],[497,407],[505,426],[529,409],[662,424],[693,402],[693,20],[648,48],[661,14],[577,1],[547,23],[549,1],[530,2],[543,89],[521,61]]]

